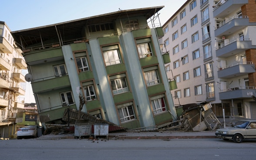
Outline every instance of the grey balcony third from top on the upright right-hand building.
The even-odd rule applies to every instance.
[[[216,56],[230,57],[249,49],[256,49],[256,46],[252,45],[252,41],[249,38],[236,38],[216,48]]]

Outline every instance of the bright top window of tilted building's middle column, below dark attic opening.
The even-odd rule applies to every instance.
[[[103,56],[104,56],[106,66],[121,63],[121,59],[120,59],[118,50],[104,51]]]

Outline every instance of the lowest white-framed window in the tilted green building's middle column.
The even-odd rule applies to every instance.
[[[118,108],[118,115],[119,115],[121,123],[127,122],[129,120],[134,120],[135,114],[133,111],[133,106],[128,105],[125,107]]]

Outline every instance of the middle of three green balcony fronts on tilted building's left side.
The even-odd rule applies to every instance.
[[[39,80],[31,81],[31,86],[34,93],[47,92],[54,89],[64,88],[70,86],[68,76],[61,77],[45,77]]]

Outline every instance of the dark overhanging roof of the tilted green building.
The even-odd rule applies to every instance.
[[[51,39],[56,36],[68,37],[73,35],[81,35],[81,31],[85,25],[108,23],[119,18],[130,18],[136,16],[145,16],[148,20],[154,16],[164,6],[147,7],[131,10],[119,10],[117,12],[101,14],[97,16],[71,20],[63,23],[56,23],[47,26],[34,27],[25,30],[17,30],[11,32],[17,45],[21,48],[30,46],[35,43],[40,43],[41,40]],[[22,41],[22,43],[21,43]]]

